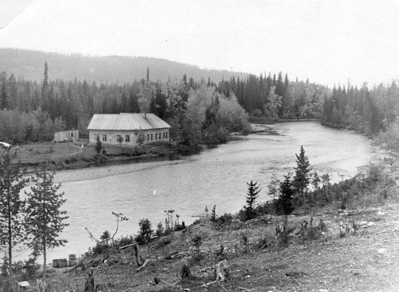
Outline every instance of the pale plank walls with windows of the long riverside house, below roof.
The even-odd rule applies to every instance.
[[[97,143],[97,136],[99,136],[100,141],[104,146],[119,145],[122,147],[136,147],[136,142],[138,138],[138,135],[136,135],[137,132],[141,132],[144,134],[145,137],[145,141],[143,143],[144,145],[154,142],[165,142],[165,143],[169,142],[169,128],[165,128],[165,129],[152,129],[152,130],[139,130],[139,131],[89,130],[89,143],[90,144]],[[165,138],[164,138],[164,133],[165,133]],[[157,134],[157,139],[155,139],[156,134]],[[159,139],[160,134],[161,134],[161,139]],[[103,135],[106,135],[107,137],[106,140],[103,139]],[[121,137],[123,138],[122,142],[117,141],[118,135],[121,135]],[[126,142],[126,135],[130,136],[130,142]]]

